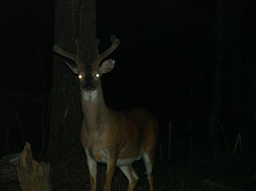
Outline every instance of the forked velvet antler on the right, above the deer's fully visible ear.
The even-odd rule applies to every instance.
[[[98,63],[102,61],[104,58],[106,58],[107,55],[112,53],[120,43],[119,39],[116,38],[116,36],[114,35],[111,36],[111,42],[112,42],[112,45],[105,52],[103,52],[102,54],[99,54],[99,51],[98,51],[99,39],[95,41],[95,59],[98,61]]]

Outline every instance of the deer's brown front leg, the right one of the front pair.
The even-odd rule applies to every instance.
[[[106,170],[106,179],[104,184],[104,191],[110,191],[111,190],[111,182],[114,175],[114,170],[116,169],[116,157],[110,158],[107,161],[107,170]]]

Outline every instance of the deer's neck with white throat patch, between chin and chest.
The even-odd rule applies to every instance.
[[[91,93],[81,91],[84,123],[87,130],[98,130],[106,123],[109,108],[104,102],[102,87],[99,86]]]

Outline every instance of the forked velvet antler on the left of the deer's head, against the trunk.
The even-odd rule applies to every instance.
[[[82,56],[81,56],[81,51],[80,51],[80,46],[79,46],[79,40],[76,39],[75,43],[76,43],[77,55],[73,55],[69,52],[64,51],[57,44],[55,44],[53,46],[53,51],[55,51],[56,53],[66,57],[66,58],[69,58],[70,60],[75,61],[77,63],[77,65],[80,66],[83,64],[83,62],[82,62]]]

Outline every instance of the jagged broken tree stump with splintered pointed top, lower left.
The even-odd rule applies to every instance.
[[[26,143],[17,166],[19,185],[23,191],[50,191],[50,164],[32,158],[30,144]]]

